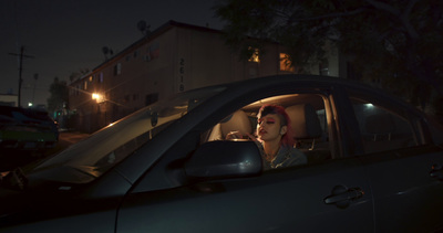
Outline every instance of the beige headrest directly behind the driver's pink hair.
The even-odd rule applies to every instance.
[[[320,120],[312,105],[292,105],[286,108],[286,113],[291,120],[296,139],[319,138],[321,136]]]

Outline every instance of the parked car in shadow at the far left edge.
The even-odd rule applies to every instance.
[[[58,139],[58,124],[47,112],[0,106],[0,149],[43,150]]]

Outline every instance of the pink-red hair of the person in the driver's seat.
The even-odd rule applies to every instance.
[[[280,119],[281,126],[287,126],[288,129],[286,130],[286,134],[281,137],[280,144],[292,147],[296,144],[296,139],[293,136],[290,118],[285,108],[279,105],[264,105],[258,110],[257,118],[260,119],[268,114],[276,114]]]

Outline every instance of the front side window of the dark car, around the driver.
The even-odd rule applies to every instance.
[[[295,107],[299,110],[303,109],[300,106],[311,106],[315,115],[310,116],[315,117],[309,118],[308,121],[297,118],[300,116],[295,116],[293,125],[305,128],[305,133],[297,136],[297,144],[293,147],[307,156],[308,165],[328,161],[337,156],[332,149],[337,148],[337,146],[333,146],[337,144],[337,140],[334,140],[337,137],[331,134],[336,130],[330,130],[329,128],[333,124],[330,124],[331,110],[328,110],[328,102],[326,95],[318,93],[289,94],[262,98],[244,106],[233,106],[230,112],[217,115],[218,119],[209,117],[196,130],[189,131],[178,140],[162,157],[162,160],[150,172],[145,173],[137,188],[134,189],[134,192],[162,190],[187,184],[188,178],[183,169],[187,159],[207,142],[215,140],[234,140],[240,142],[247,140],[246,136],[241,138],[227,138],[227,134],[231,131],[240,131],[243,135],[250,134],[254,137],[257,127],[257,113],[264,104],[278,104],[285,108]],[[302,114],[298,113],[298,115]],[[311,124],[312,121],[315,124]]]

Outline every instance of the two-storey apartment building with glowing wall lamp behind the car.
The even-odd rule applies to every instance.
[[[264,56],[240,61],[220,31],[169,21],[70,84],[74,127],[91,133],[187,89],[293,73],[281,54],[285,49],[270,43]],[[338,64],[329,75],[338,76]]]

